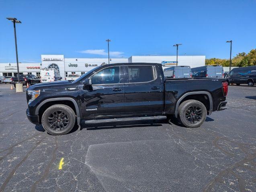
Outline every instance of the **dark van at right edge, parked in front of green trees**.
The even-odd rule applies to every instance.
[[[227,76],[227,82],[236,85],[248,84],[248,86],[254,86],[256,66],[233,68]]]

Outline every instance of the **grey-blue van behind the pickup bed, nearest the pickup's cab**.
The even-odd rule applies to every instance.
[[[190,66],[173,66],[164,69],[165,78],[190,78],[192,77]]]

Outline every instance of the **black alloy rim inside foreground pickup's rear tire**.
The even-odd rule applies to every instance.
[[[199,106],[197,105],[190,106],[186,110],[186,120],[190,124],[198,123],[202,120],[202,113],[203,111]]]

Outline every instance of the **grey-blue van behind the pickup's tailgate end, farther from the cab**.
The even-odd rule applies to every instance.
[[[224,71],[222,66],[206,65],[202,67],[191,68],[192,77],[197,78],[224,78]]]

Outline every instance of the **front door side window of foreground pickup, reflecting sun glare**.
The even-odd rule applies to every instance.
[[[119,66],[105,68],[92,76],[92,84],[118,84],[120,83]]]

